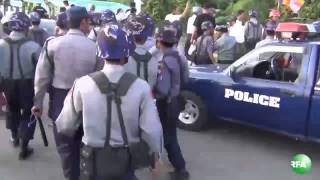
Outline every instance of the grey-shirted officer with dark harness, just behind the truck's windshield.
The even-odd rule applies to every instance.
[[[249,11],[250,20],[244,26],[244,44],[247,51],[255,48],[256,44],[262,40],[263,26],[259,23],[256,10]]]

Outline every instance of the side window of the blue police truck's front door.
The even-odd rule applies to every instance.
[[[301,47],[303,48],[303,47]],[[299,77],[304,51],[270,48],[255,53],[236,69],[241,77],[295,83]]]

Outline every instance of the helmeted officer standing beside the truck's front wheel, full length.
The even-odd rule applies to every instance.
[[[163,127],[164,147],[175,171],[173,179],[187,179],[185,160],[177,138],[177,120],[180,113],[179,95],[182,81],[182,68],[179,53],[173,48],[177,42],[175,32],[163,30],[158,36],[159,48],[163,53],[158,79],[155,87],[157,108]]]

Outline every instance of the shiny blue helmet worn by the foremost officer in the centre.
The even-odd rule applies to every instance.
[[[98,56],[107,61],[129,57],[127,34],[118,24],[106,25],[97,37]]]

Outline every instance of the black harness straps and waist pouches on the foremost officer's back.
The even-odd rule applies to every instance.
[[[80,170],[81,180],[91,180],[94,177],[104,179],[121,179],[130,169],[148,167],[152,163],[149,155],[149,146],[142,139],[138,143],[128,142],[126,127],[121,111],[121,97],[125,96],[137,76],[125,73],[118,83],[111,83],[107,76],[99,71],[89,75],[98,86],[100,92],[106,95],[107,100],[107,132],[103,148],[95,148],[85,145],[81,149]],[[112,101],[115,102],[124,141],[123,147],[112,147],[110,145]]]

